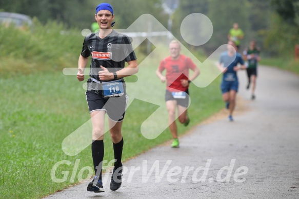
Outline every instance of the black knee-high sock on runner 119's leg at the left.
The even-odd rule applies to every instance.
[[[91,153],[92,153],[92,160],[93,160],[93,168],[94,173],[98,176],[99,180],[102,180],[102,162],[104,158],[104,142],[102,140],[95,140],[91,144]],[[97,171],[98,169],[101,169]]]

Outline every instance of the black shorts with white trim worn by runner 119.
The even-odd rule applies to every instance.
[[[88,86],[85,94],[90,113],[96,110],[105,110],[111,120],[115,122],[124,120],[128,103],[126,92],[119,97],[106,98],[103,96],[101,90],[93,90]]]

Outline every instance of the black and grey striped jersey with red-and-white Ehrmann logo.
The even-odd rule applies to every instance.
[[[102,70],[100,66],[108,68],[109,72],[116,72],[125,67],[125,62],[137,59],[129,37],[115,30],[105,38],[100,38],[98,33],[86,36],[81,55],[92,56],[90,76],[97,80],[98,71]]]

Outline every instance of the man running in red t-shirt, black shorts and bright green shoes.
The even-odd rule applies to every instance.
[[[198,70],[189,57],[180,54],[181,45],[179,42],[172,41],[169,44],[169,52],[170,56],[161,61],[156,74],[162,83],[167,82],[165,101],[169,115],[169,129],[173,137],[171,147],[178,147],[175,109],[177,107],[178,121],[187,126],[190,122],[190,118],[187,115],[187,108],[189,106],[188,87],[191,81],[200,74],[200,70]],[[194,71],[190,78],[188,77],[189,69]],[[165,76],[162,74],[164,70],[166,70]]]

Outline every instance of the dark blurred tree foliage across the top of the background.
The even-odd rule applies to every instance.
[[[165,27],[169,15],[164,12],[163,0],[116,1],[107,0],[114,8],[115,28],[127,28],[140,15],[149,13]],[[66,28],[90,29],[94,21],[94,10],[99,1],[61,0],[8,0],[0,2],[0,11],[24,13],[37,17],[46,24],[48,21],[62,22]],[[207,15],[213,24],[213,36],[202,47],[213,50],[226,43],[227,33],[234,22],[245,32],[243,48],[250,39],[255,39],[263,49],[263,54],[293,56],[295,44],[299,44],[299,1],[298,0],[185,0],[180,1],[175,12],[172,32],[180,37],[183,19],[191,13]],[[182,41],[183,42],[183,41]],[[198,49],[192,47],[193,49]],[[208,52],[209,52],[208,51]]]

